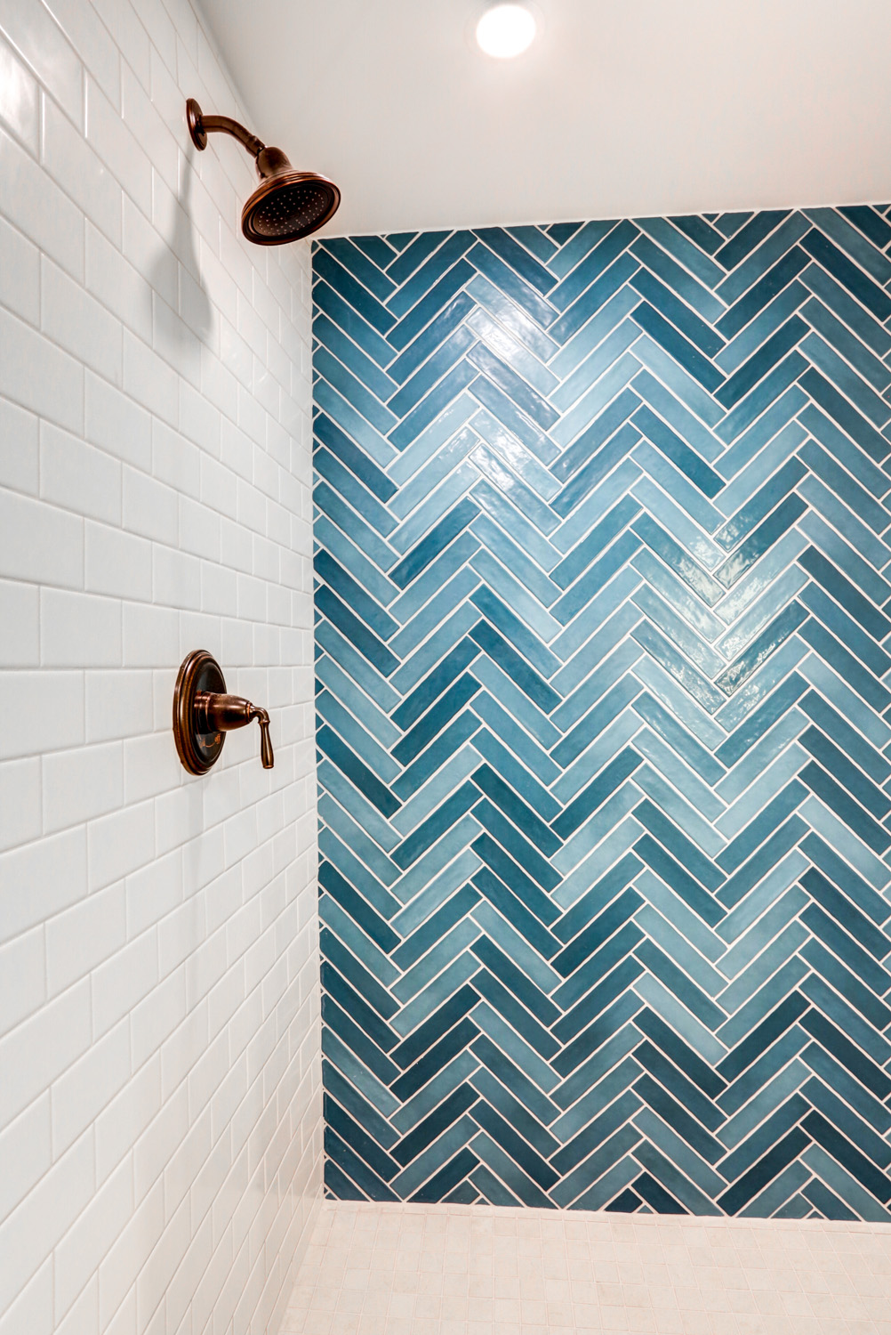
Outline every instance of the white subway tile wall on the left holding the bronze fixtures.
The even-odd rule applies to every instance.
[[[187,95],[188,0],[0,0],[1,1335],[275,1331],[320,1192],[308,247]]]

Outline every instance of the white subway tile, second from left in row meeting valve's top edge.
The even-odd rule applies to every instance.
[[[44,668],[120,666],[120,602],[64,589],[41,589],[40,661]]]

